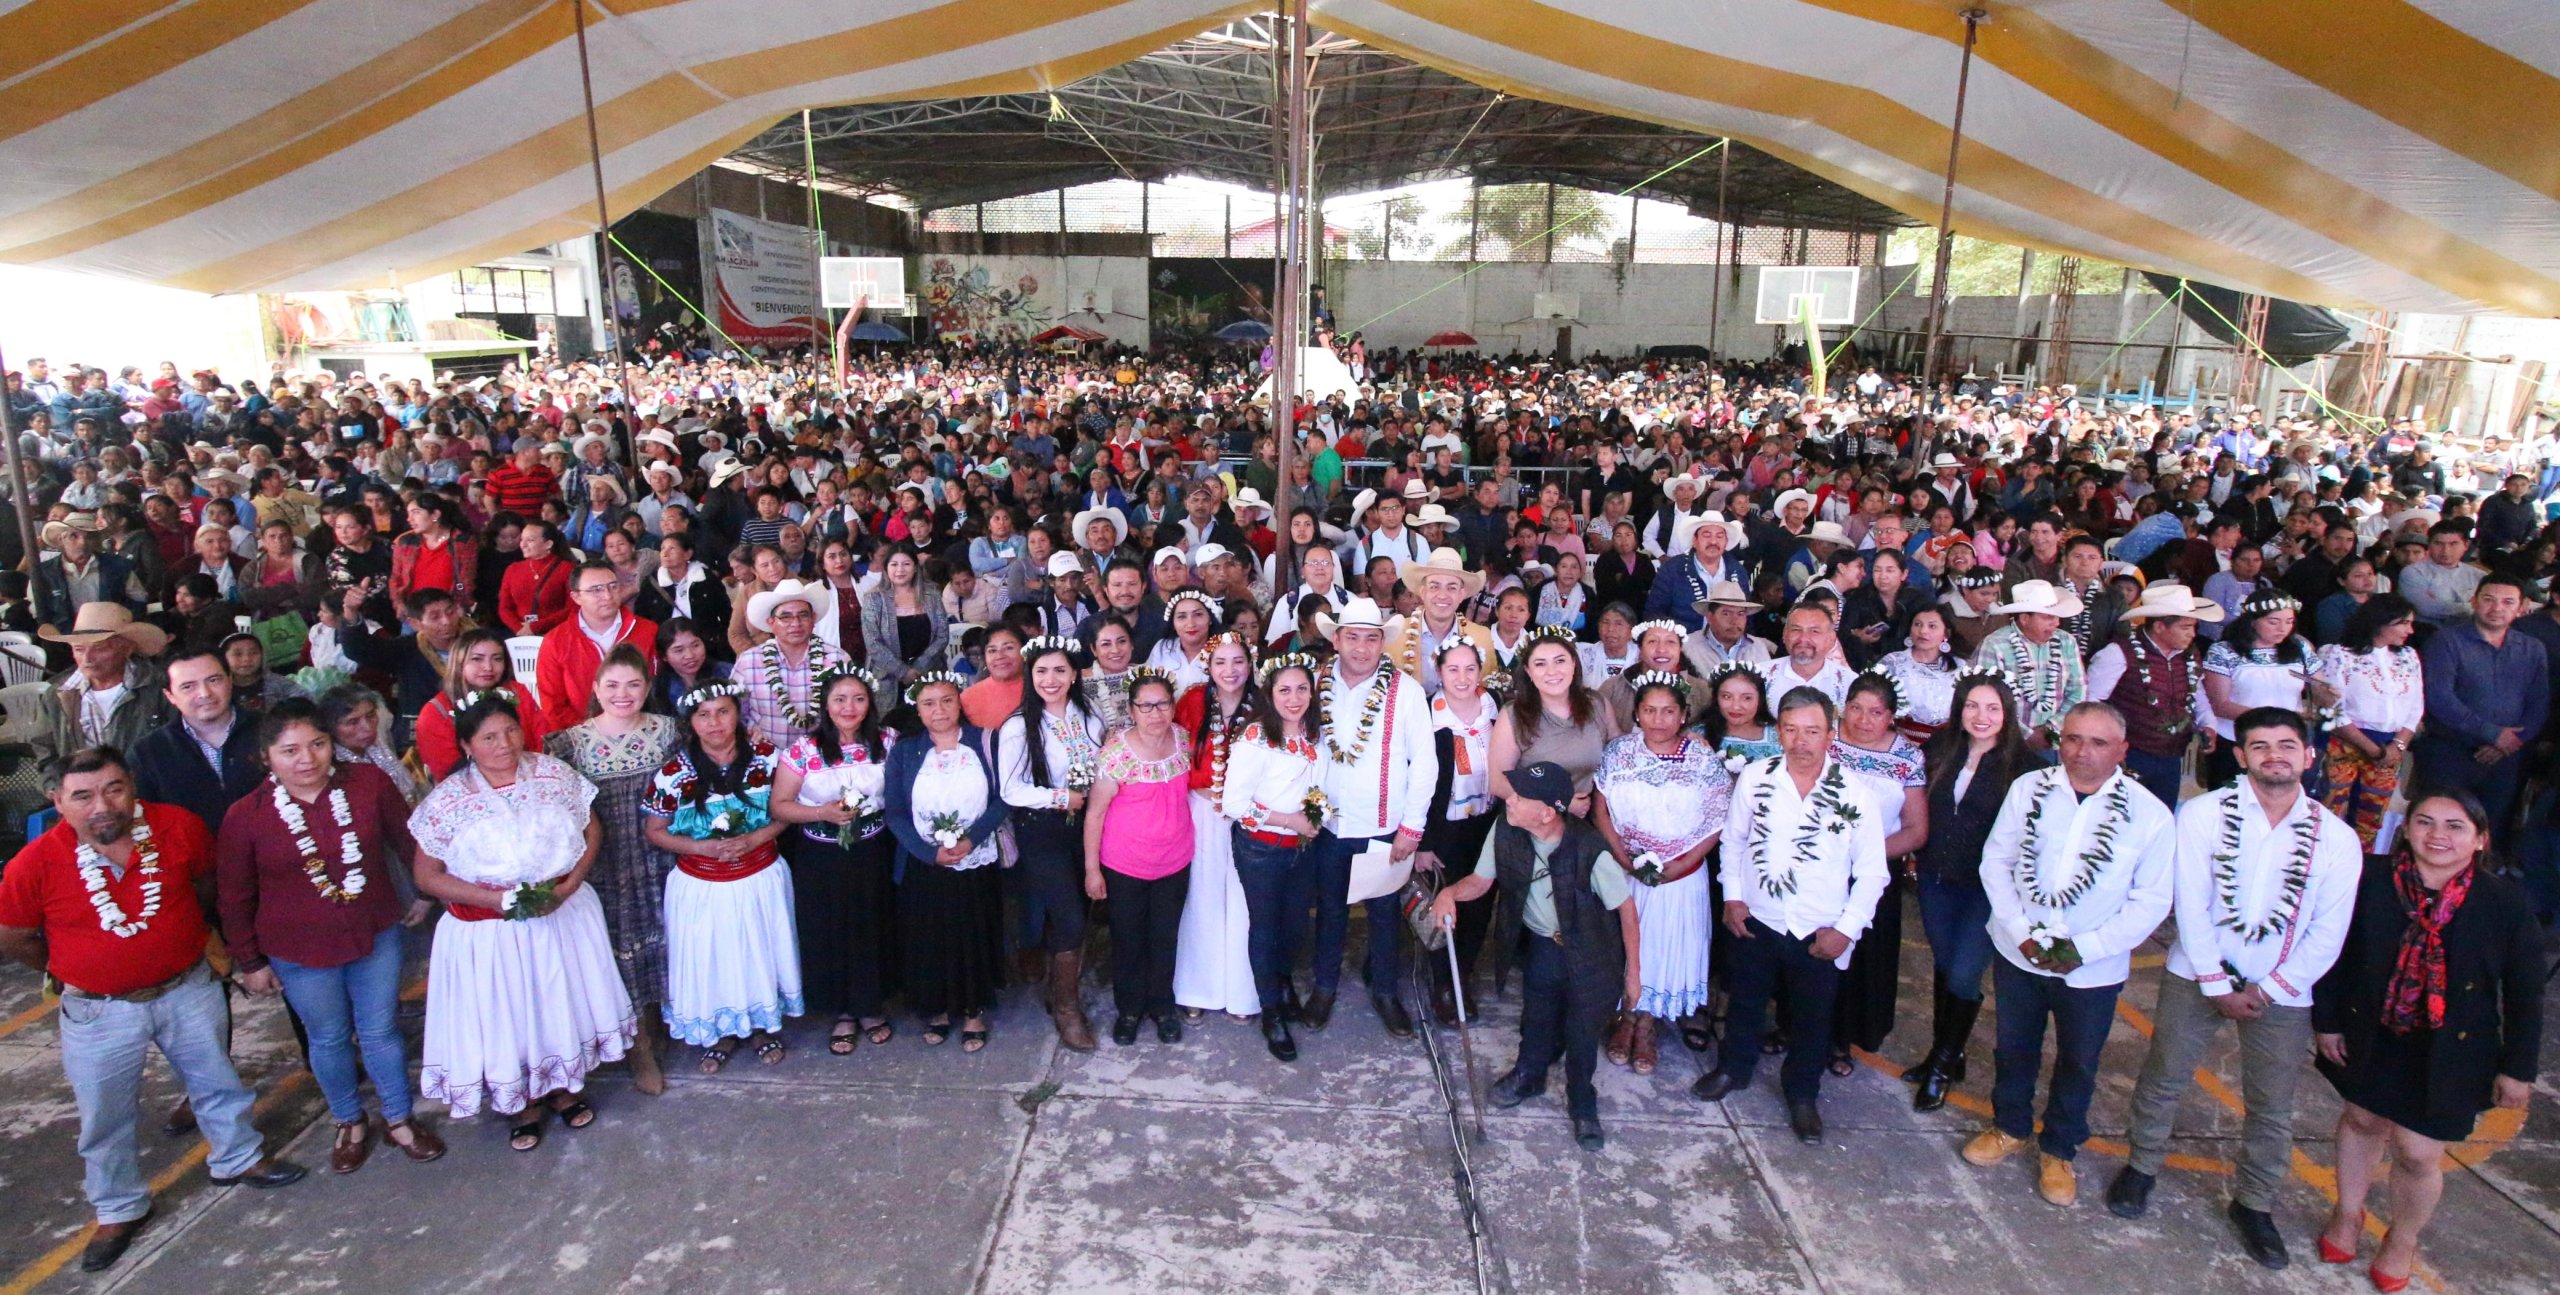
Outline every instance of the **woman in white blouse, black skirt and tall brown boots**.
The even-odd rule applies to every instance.
[[[1021,704],[996,729],[996,781],[1021,862],[1021,967],[1047,980],[1050,1024],[1073,1052],[1093,1052],[1085,1019],[1085,793],[1101,768],[1103,722],[1078,686],[1075,640],[1042,635],[1021,648]],[[1032,735],[1039,742],[1032,742]]]

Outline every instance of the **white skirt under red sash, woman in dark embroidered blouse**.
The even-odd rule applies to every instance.
[[[809,1011],[791,924],[791,865],[737,880],[666,875],[666,1031],[694,1047],[781,1029]]]

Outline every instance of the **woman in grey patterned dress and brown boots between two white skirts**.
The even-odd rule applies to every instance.
[[[663,714],[648,714],[648,660],[620,642],[596,665],[594,719],[550,735],[545,750],[596,786],[594,814],[604,824],[604,845],[596,850],[594,891],[604,903],[622,988],[640,1013],[632,1088],[658,1095],[666,1093],[666,1072],[658,1067],[663,1021],[653,1016],[666,1001],[666,875],[676,860],[650,845],[640,804],[668,755],[684,745],[684,729]]]

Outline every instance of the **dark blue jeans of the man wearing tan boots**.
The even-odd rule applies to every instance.
[[[2097,1060],[2115,1029],[2115,996],[2125,985],[2071,988],[2058,975],[2038,975],[2002,957],[1992,962],[1992,990],[1999,993],[1992,1124],[2012,1139],[2035,1136],[2035,1072],[2045,1062],[2051,1016],[2053,1085],[2045,1090],[2045,1131],[2035,1144],[2053,1159],[2071,1159],[2089,1141]]]

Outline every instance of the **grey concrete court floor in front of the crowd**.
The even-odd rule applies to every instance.
[[[1910,921],[1917,932],[1917,921]],[[901,1021],[888,1047],[829,1057],[822,1024],[778,1067],[678,1077],[640,1098],[620,1067],[591,1085],[602,1118],[509,1154],[494,1124],[448,1129],[453,1154],[407,1164],[376,1152],[353,1177],[212,1190],[202,1147],[146,1136],[159,1221],[102,1277],[77,1272],[87,1208],[51,1016],[33,978],[0,978],[0,1295],[118,1290],[287,1295],[425,1292],[1902,1292],[2048,1295],[2345,1292],[2358,1269],[2312,1259],[2327,1213],[2337,1103],[2304,1080],[2296,1177],[2278,1208],[2296,1264],[2263,1272],[2222,1221],[2237,1116],[2199,1088],[2181,1159],[2153,1216],[2099,1203],[2122,1157],[2161,975],[2143,960],[2109,1042],[2081,1203],[2033,1195],[2033,1167],[1971,1170],[1956,1147],[1981,1126],[1989,1021],[1974,1077],[1940,1113],[1910,1111],[1892,1077],[1923,1047],[1928,962],[1905,947],[1905,1024],[1887,1057],[1830,1080],[1830,1141],[1802,1147],[1774,1072],[1725,1106],[1697,1106],[1697,1060],[1667,1044],[1661,1072],[1603,1065],[1608,1152],[1567,1136],[1559,1098],[1487,1111],[1467,1147],[1464,1098],[1423,1044],[1390,1042],[1347,998],[1303,1060],[1262,1054],[1252,1026],[1211,1019],[1180,1047],[1060,1052],[1014,993],[978,1057],[929,1049]],[[1088,988],[1096,1008],[1106,990]],[[1477,1031],[1477,1072],[1513,1054],[1513,1003]],[[2560,1008],[2555,1008],[2560,1024]],[[320,1170],[328,1121],[292,1057],[282,1011],[241,1011],[238,1057],[271,1144]],[[1152,1039],[1152,1034],[1149,1034]],[[1452,1067],[1454,1031],[1439,1034]],[[2212,1070],[2237,1088],[2235,1047]],[[1034,1100],[1044,1085],[1047,1100]],[[1562,1093],[1562,1083],[1554,1088]],[[2529,1118],[2488,1118],[2450,1175],[2422,1287],[2547,1295],[2560,1287],[2560,1085]],[[166,1075],[148,1090],[156,1113]],[[1027,1108],[1029,1103],[1029,1108]],[[1469,1200],[1482,1234],[1469,1231]],[[2365,1246],[2371,1262],[2371,1244]]]

